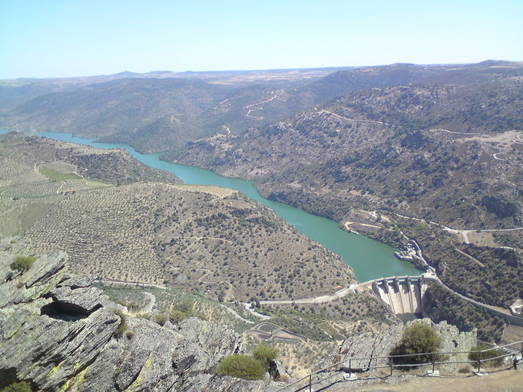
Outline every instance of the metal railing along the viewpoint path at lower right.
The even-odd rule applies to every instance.
[[[518,349],[517,350],[513,349],[514,347],[517,347]],[[485,354],[485,353],[491,352],[493,350],[502,350],[505,353],[494,356],[494,357],[491,357],[490,355]],[[474,360],[474,361],[472,361],[472,360],[446,361],[445,360],[447,355],[467,354],[467,357],[468,357],[468,354],[470,354],[470,353],[477,354],[478,359]],[[343,361],[336,362],[332,365],[323,367],[323,368],[309,374],[308,376],[300,378],[299,380],[276,390],[276,392],[283,392],[283,391],[299,392],[302,390],[312,392],[313,385],[323,383],[323,382],[327,381],[329,378],[333,378],[340,374],[344,374],[347,372],[348,373],[351,373],[351,372],[362,373],[362,372],[368,372],[371,370],[384,369],[384,368],[390,368],[390,375],[388,375],[387,377],[390,377],[393,375],[393,371],[395,368],[401,368],[401,369],[405,370],[405,368],[412,368],[412,367],[419,367],[419,366],[432,366],[432,372],[434,373],[436,370],[436,365],[441,365],[441,364],[475,364],[475,365],[477,365],[477,372],[481,372],[481,365],[483,363],[495,361],[498,359],[504,359],[509,356],[513,356],[515,359],[517,359],[517,357],[519,357],[519,359],[521,361],[523,361],[523,340],[515,342],[515,343],[505,344],[505,345],[499,346],[499,347],[493,347],[493,348],[487,349],[487,350],[480,350],[480,351],[449,351],[449,352],[436,352],[436,353],[373,356],[370,358],[348,358]],[[404,361],[401,359],[404,359],[406,357],[430,358],[431,360],[429,360],[429,362],[424,362],[424,363],[403,363]],[[482,357],[484,359],[482,359]],[[396,359],[396,363],[394,363],[394,359]],[[379,364],[380,360],[384,360],[381,362],[388,361],[389,363],[380,365]],[[366,361],[366,363],[368,363],[368,365],[363,366],[363,367],[353,368],[352,365],[356,361],[358,361],[359,363],[361,363],[361,361]],[[376,365],[373,366],[372,362],[375,362]],[[415,361],[412,361],[412,362],[415,362]],[[348,365],[348,366],[344,366],[344,365]],[[318,379],[313,380],[313,376],[319,375],[321,373],[329,372],[329,371],[330,372],[334,371],[334,373],[329,374],[324,378],[318,378]],[[297,387],[299,384],[303,384],[303,385],[298,387],[298,389],[291,389],[292,386]],[[322,387],[322,390],[327,389],[327,388],[328,388],[328,386]]]

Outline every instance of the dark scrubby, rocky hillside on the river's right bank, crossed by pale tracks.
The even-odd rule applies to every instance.
[[[178,162],[254,179],[270,198],[338,221],[351,207],[393,207],[451,227],[510,227],[520,213],[496,214],[485,198],[521,198],[521,142],[512,129],[523,128],[523,90],[483,88],[358,91],[242,136],[191,143]],[[489,96],[500,103],[488,107]]]

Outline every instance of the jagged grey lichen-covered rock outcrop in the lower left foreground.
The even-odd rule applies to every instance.
[[[214,374],[223,356],[242,349],[228,327],[119,316],[90,286],[93,276],[66,274],[65,253],[40,256],[24,273],[9,268],[13,259],[0,248],[0,388],[24,380],[47,391],[261,392],[270,382]],[[127,331],[117,338],[122,317]]]

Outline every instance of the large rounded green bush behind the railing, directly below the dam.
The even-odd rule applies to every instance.
[[[403,330],[400,343],[391,351],[391,355],[434,353],[441,347],[441,338],[430,326],[415,323]],[[428,363],[433,360],[432,354],[409,355],[391,358],[394,364]]]

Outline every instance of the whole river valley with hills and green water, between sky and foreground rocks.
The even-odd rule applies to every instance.
[[[359,290],[382,276],[433,271],[425,315],[499,342],[488,307],[523,295],[522,81],[503,61],[3,81],[0,234],[136,315],[267,338],[295,377],[400,325]]]

